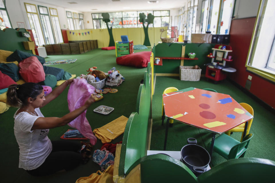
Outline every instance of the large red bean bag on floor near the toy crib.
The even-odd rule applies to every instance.
[[[118,65],[128,65],[134,67],[147,67],[150,62],[150,55],[152,51],[142,51],[117,57]]]

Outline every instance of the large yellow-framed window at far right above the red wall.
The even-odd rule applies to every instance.
[[[262,0],[247,56],[247,70],[275,81],[275,1]]]

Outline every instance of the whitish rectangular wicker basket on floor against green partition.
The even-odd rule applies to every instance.
[[[201,77],[201,68],[194,69],[195,66],[180,66],[180,80],[199,81]]]

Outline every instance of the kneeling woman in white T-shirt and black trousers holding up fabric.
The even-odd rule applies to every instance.
[[[80,143],[74,141],[50,141],[47,134],[50,128],[64,126],[84,112],[93,102],[87,99],[80,108],[61,118],[45,118],[40,108],[59,96],[69,79],[56,87],[45,97],[43,87],[37,83],[10,85],[7,92],[7,104],[19,108],[14,114],[14,134],[19,145],[19,168],[34,176],[45,176],[60,170],[71,170],[82,161],[77,152]]]

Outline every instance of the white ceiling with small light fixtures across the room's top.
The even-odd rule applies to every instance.
[[[134,10],[169,10],[184,6],[184,0],[159,0],[158,3],[148,3],[146,0],[32,0],[60,6],[81,12],[111,12]],[[77,4],[70,4],[75,2]],[[96,10],[95,10],[96,9]]]

